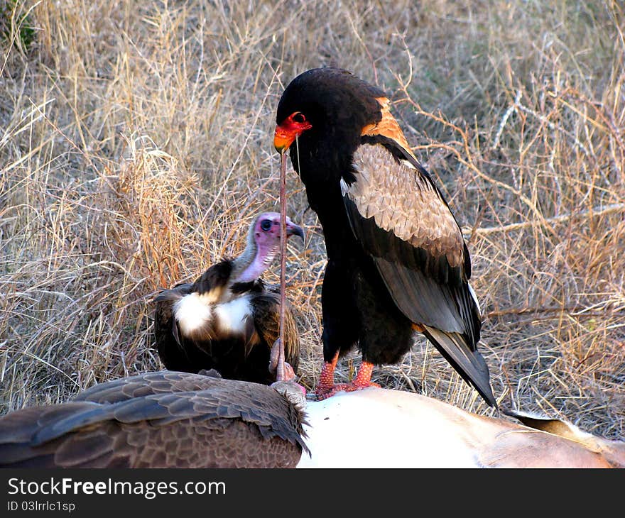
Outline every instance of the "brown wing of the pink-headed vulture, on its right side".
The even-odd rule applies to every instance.
[[[280,295],[271,291],[272,287],[268,287],[267,290],[254,294],[250,302],[256,332],[271,347],[280,334]],[[284,342],[284,358],[297,373],[300,362],[300,335],[293,309],[288,302],[284,313]]]

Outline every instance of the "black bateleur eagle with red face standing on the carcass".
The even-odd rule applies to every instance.
[[[477,351],[482,316],[469,250],[386,94],[347,70],[303,72],[278,102],[273,144],[289,151],[325,239],[317,397],[375,385],[374,365],[398,363],[418,331],[496,407]],[[337,360],[354,346],[357,376],[335,385]]]

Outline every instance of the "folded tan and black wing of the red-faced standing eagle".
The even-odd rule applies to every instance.
[[[494,404],[488,367],[476,350],[481,321],[468,285],[469,253],[447,202],[391,138],[365,136],[353,166],[355,180],[341,187],[354,235],[397,307]]]

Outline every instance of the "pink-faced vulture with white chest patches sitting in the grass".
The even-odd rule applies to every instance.
[[[265,385],[276,381],[268,365],[279,335],[280,293],[259,277],[278,255],[280,229],[280,214],[263,212],[252,221],[239,257],[222,260],[195,282],[154,298],[156,349],[165,368],[215,369],[224,378]],[[304,238],[303,229],[289,218],[286,235]],[[290,307],[285,307],[284,321],[286,368],[294,374],[300,345]]]

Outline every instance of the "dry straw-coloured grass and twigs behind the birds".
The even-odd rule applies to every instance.
[[[466,231],[501,402],[625,437],[620,4],[392,4],[14,4],[0,43],[2,412],[161,368],[151,295],[238,253],[254,214],[276,209],[278,97],[333,64],[391,94]],[[288,192],[308,228],[305,253],[290,243],[288,296],[312,387],[325,255],[292,172]],[[489,412],[422,339],[374,379]]]

